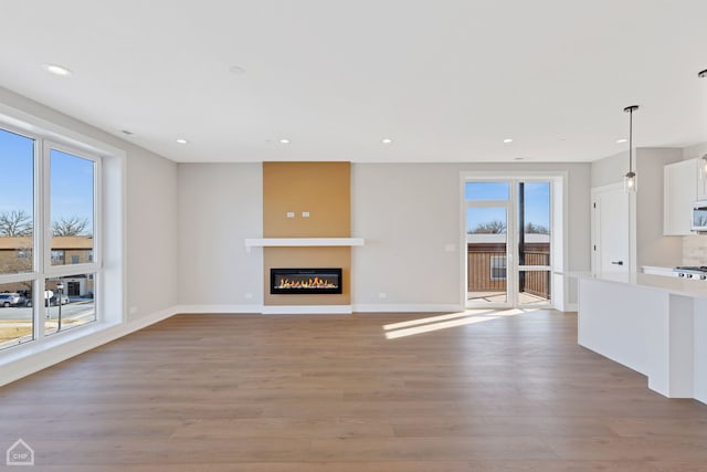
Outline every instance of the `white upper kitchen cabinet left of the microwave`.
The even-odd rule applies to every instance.
[[[697,200],[699,164],[697,160],[682,160],[663,168],[663,234],[686,235],[690,231],[693,203]],[[704,180],[704,178],[703,178]],[[699,181],[704,185],[703,181]]]

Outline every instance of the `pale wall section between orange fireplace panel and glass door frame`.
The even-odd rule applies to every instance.
[[[355,164],[351,202],[352,235],[366,239],[365,247],[352,251],[355,311],[458,306],[461,214],[455,167]],[[445,251],[447,244],[455,250]]]

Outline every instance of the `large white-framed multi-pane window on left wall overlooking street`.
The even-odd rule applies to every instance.
[[[12,307],[0,317],[3,349],[97,319],[101,159],[0,128],[0,308]]]

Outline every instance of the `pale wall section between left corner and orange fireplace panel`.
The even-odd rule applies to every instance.
[[[263,303],[260,164],[180,164],[179,295],[182,311],[257,311]],[[250,294],[250,297],[249,297]]]

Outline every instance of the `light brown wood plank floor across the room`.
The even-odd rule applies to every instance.
[[[38,471],[707,471],[707,406],[573,314],[432,316],[176,316],[0,388],[2,463],[22,438]]]

